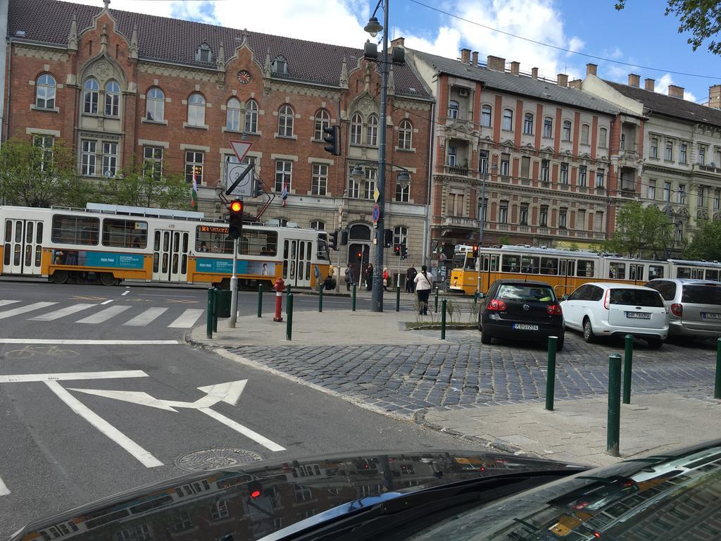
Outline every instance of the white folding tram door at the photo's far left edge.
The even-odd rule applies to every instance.
[[[42,255],[42,221],[5,220],[3,273],[40,275]]]

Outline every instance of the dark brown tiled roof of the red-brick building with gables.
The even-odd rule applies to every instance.
[[[25,31],[22,39],[67,45],[70,23],[75,14],[78,34],[92,25],[92,19],[102,7],[73,4],[58,0],[10,0],[8,33],[15,37],[17,30]],[[38,17],[38,14],[42,16]],[[221,42],[226,50],[226,61],[239,45],[243,31],[230,27],[206,25],[168,17],[110,9],[118,21],[118,31],[130,41],[133,28],[138,29],[138,56],[197,66],[207,63],[195,61],[195,51],[201,43],[208,43],[216,58]],[[270,50],[270,58],[282,55],[288,61],[289,79],[329,84],[337,87],[343,58],[348,71],[355,68],[361,49],[341,47],[314,41],[285,38],[283,36],[247,32],[248,45],[261,64]],[[214,64],[213,64],[214,65]],[[409,66],[394,66],[396,94],[410,94],[430,98],[425,85]]]

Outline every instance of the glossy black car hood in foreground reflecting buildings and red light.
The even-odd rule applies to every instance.
[[[424,488],[567,466],[573,465],[471,452],[254,462],[106,498],[25,527],[13,540],[282,539],[293,530]]]

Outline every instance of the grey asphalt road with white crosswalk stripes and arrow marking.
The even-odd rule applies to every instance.
[[[257,294],[241,299],[255,310]],[[0,281],[0,538],[207,457],[469,447],[187,346],[205,317],[187,310],[204,308],[203,289]]]

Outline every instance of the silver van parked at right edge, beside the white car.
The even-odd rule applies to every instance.
[[[721,282],[658,278],[646,283],[668,308],[668,334],[696,338],[721,336]]]

